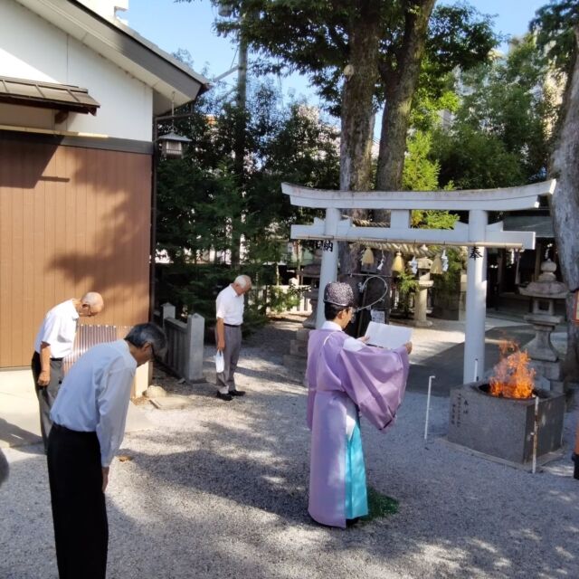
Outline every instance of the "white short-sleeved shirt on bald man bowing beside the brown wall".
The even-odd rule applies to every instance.
[[[51,357],[63,358],[72,351],[79,312],[71,299],[54,306],[44,317],[43,324],[36,334],[34,350],[40,354],[43,342],[51,346]]]

